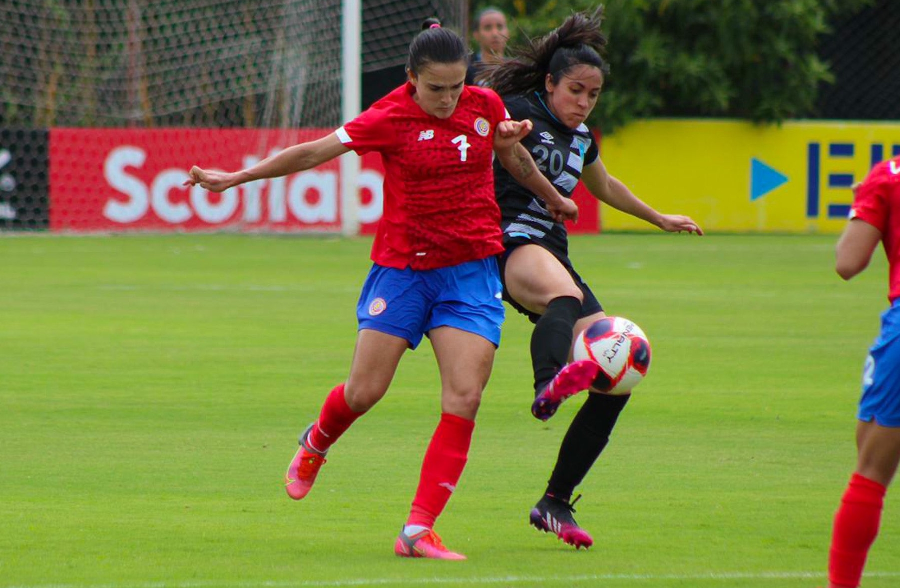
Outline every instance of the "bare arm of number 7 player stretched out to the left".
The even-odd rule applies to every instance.
[[[336,158],[338,155],[343,155],[349,150],[340,142],[338,135],[332,132],[321,139],[284,149],[270,158],[263,159],[255,166],[240,171],[224,172],[193,166],[188,173],[190,177],[184,181],[184,185],[199,184],[210,192],[223,192],[234,185],[252,180],[287,176],[310,169]]]

